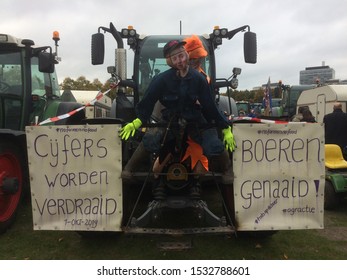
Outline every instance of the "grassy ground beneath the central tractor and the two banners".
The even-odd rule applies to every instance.
[[[75,232],[34,231],[29,203],[16,223],[0,236],[2,260],[345,260],[347,259],[347,200],[325,212],[325,229],[279,231],[268,238],[235,236],[100,236],[83,238]],[[161,250],[160,242],[192,245],[182,251]]]

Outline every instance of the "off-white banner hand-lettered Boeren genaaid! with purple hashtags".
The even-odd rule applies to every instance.
[[[233,133],[238,230],[323,228],[323,125],[244,123]]]

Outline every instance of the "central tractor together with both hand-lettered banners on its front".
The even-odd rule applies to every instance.
[[[135,106],[151,80],[168,69],[164,45],[188,35],[140,36],[133,27],[121,31],[112,23],[99,27],[92,35],[92,64],[103,63],[103,33],[110,33],[117,41],[116,65],[108,67],[111,84],[117,86],[111,117],[86,119],[75,127],[27,127],[34,229],[180,236],[322,228],[322,126],[232,118],[237,107],[231,97],[241,69],[234,67],[228,79],[216,78],[215,50],[241,31],[245,31],[245,62],[256,63],[256,35],[248,26],[232,31],[216,27],[211,34],[200,36],[208,52],[203,68],[211,80],[211,93],[232,125],[236,148],[227,154],[232,168],[226,174],[222,160],[212,156],[208,172],[196,178],[192,164],[182,161],[181,154],[183,143],[189,141],[185,132],[191,123],[160,123],[160,111],[154,110],[151,121],[135,129],[132,137],[122,141],[117,135],[136,118]],[[124,39],[134,52],[130,79],[125,70]],[[225,87],[228,94],[220,94],[220,88]],[[138,155],[135,151],[147,130],[163,126],[175,137],[170,146],[173,157],[164,162],[159,174],[164,184],[161,191],[165,192],[159,196],[152,193],[158,154],[144,151]],[[219,133],[218,129],[213,131]],[[49,150],[49,143],[62,144],[59,155]],[[201,148],[192,150],[194,154]],[[125,179],[124,166],[134,159],[139,164],[133,165]],[[223,175],[230,175],[229,180],[223,180]],[[201,195],[192,193],[191,187],[198,188],[199,184]]]

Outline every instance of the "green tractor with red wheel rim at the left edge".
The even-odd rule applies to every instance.
[[[25,126],[68,113],[80,104],[62,102],[55,52],[32,40],[0,34],[0,233],[14,222],[24,190],[29,190]],[[84,111],[52,124],[79,124]]]

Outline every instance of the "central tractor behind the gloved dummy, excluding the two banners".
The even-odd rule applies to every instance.
[[[163,57],[163,47],[170,40],[182,40],[188,35],[150,35],[140,36],[137,31],[129,26],[118,31],[110,23],[109,27],[99,27],[98,33],[92,35],[92,64],[99,65],[104,62],[105,41],[104,33],[111,34],[117,42],[118,48],[115,50],[115,66],[108,67],[111,74],[112,83],[117,84],[116,98],[111,109],[112,119],[104,120],[105,123],[125,124],[135,118],[136,104],[142,99],[145,91],[152,79],[156,75],[169,69],[166,59]],[[215,27],[210,35],[199,36],[208,55],[203,61],[202,68],[210,77],[211,92],[215,104],[226,118],[232,119],[238,116],[237,107],[231,97],[233,89],[238,86],[238,75],[240,68],[233,68],[231,76],[226,79],[216,77],[216,57],[215,50],[223,40],[230,40],[239,32],[244,33],[244,55],[245,62],[256,63],[256,34],[250,32],[250,27],[245,25],[234,30]],[[133,73],[127,79],[127,54],[124,49],[123,39],[134,52]],[[226,88],[226,94],[221,94],[220,89]],[[160,105],[156,106],[160,109]],[[151,122],[144,125],[146,130],[163,125],[160,123],[160,111],[154,109]],[[100,123],[101,120],[95,121]],[[93,124],[92,120],[88,120]],[[208,190],[218,190],[222,206],[222,214],[215,214],[206,199],[192,199],[187,192],[187,186],[194,184],[194,177],[190,166],[180,162],[181,148],[184,146],[184,129],[189,124],[181,125],[178,123],[167,127],[167,130],[175,131],[177,154],[170,160],[164,168],[161,176],[166,185],[165,199],[158,200],[151,198],[151,184],[153,183],[152,167],[156,155],[140,156],[138,161],[141,164],[132,173],[132,180],[123,180],[123,228],[126,233],[153,233],[153,234],[196,234],[196,233],[228,233],[234,232],[234,217],[232,185],[221,184],[220,163],[210,162],[210,171],[201,178],[201,184],[207,186]],[[131,140],[122,144],[122,164],[123,167],[129,160],[133,160],[135,150],[144,135],[144,131],[138,131]],[[134,187],[134,185],[140,188]],[[149,190],[149,191],[148,191]],[[144,210],[139,210],[141,201],[145,201]],[[148,203],[148,204],[147,204]],[[210,202],[209,202],[210,203]],[[211,202],[212,203],[212,202]],[[170,225],[163,224],[163,221],[170,221],[168,213],[179,212],[180,217],[190,217],[194,213],[194,218],[188,218],[186,226],[170,228]],[[137,217],[135,217],[137,215]],[[193,222],[194,221],[194,222]],[[196,221],[196,223],[195,223]]]

